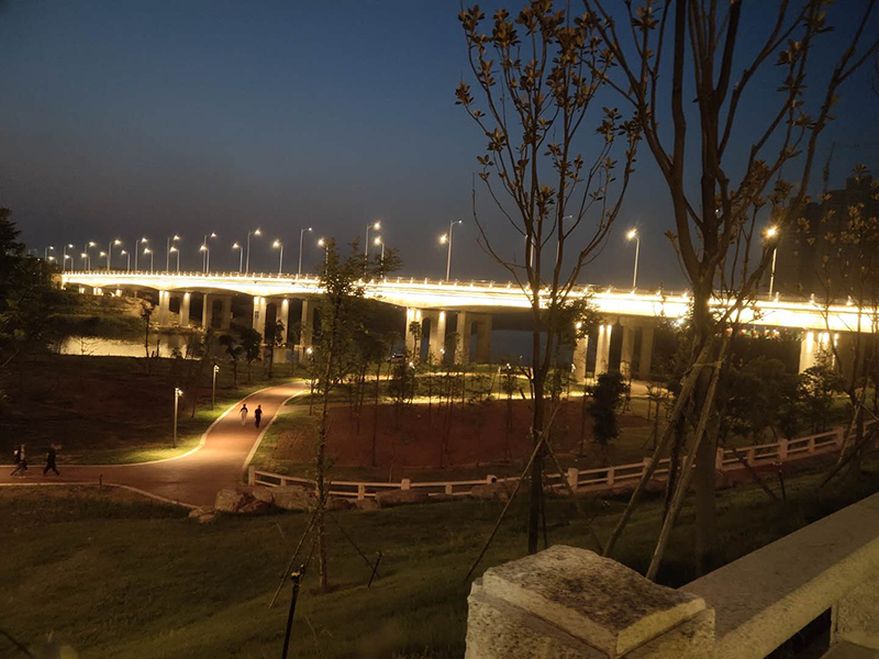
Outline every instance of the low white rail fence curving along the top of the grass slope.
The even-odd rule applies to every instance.
[[[868,427],[872,423],[865,424]],[[742,460],[752,467],[771,465],[776,462],[790,462],[793,460],[808,458],[811,456],[835,453],[844,445],[845,428],[836,428],[817,435],[799,437],[797,439],[781,439],[771,444],[758,444],[736,449]],[[849,437],[850,438],[850,437]],[[735,471],[743,469],[742,461],[736,457],[733,449],[717,449],[716,468],[717,471]],[[681,461],[686,456],[681,456]],[[663,480],[669,471],[670,460],[665,458],[659,461],[659,466],[654,472],[653,478]],[[602,491],[610,490],[623,484],[637,482],[649,467],[650,459],[644,458],[641,462],[628,465],[615,465],[612,467],[601,467],[599,469],[579,470],[575,467],[568,469],[567,473],[546,474],[546,487],[554,490],[564,488],[563,479],[575,490]],[[424,481],[412,482],[404,478],[397,482],[363,482],[363,481],[331,481],[330,494],[333,496],[346,496],[351,499],[374,498],[379,492],[389,490],[425,490],[429,495],[453,495],[465,496],[470,493],[475,485],[486,485],[500,481],[516,481],[518,477],[497,478],[489,474],[483,479],[465,481]],[[277,488],[280,485],[302,485],[314,488],[313,480],[260,471],[251,467],[248,470],[247,482],[252,485],[267,485]]]

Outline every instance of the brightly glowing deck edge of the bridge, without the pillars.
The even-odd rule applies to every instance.
[[[321,294],[320,280],[313,276],[279,277],[278,275],[240,275],[202,272],[149,273],[149,272],[65,272],[64,283],[102,289],[143,288],[167,291],[226,292],[245,295],[314,297]],[[442,309],[449,311],[503,311],[530,309],[527,295],[514,283],[494,281],[442,281],[424,278],[390,278],[364,282],[367,295],[389,304],[418,309]],[[571,298],[590,294],[598,310],[608,316],[636,316],[679,319],[691,302],[687,293],[659,294],[632,291],[614,291],[607,287],[578,286]],[[726,302],[715,300],[714,309]],[[877,332],[879,319],[869,311],[858,317],[855,306],[838,304],[828,310],[831,332],[855,332],[860,322],[861,332]],[[741,321],[745,325],[787,327],[792,330],[827,331],[824,314],[812,302],[802,300],[757,300],[744,309]]]

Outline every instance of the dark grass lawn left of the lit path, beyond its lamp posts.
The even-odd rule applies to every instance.
[[[173,359],[41,355],[13,362],[0,390],[0,463],[12,461],[14,445],[29,447],[32,463],[43,459],[54,442],[63,463],[119,463],[169,458],[194,447],[204,431],[229,406],[248,393],[289,381],[289,369],[271,380],[254,366],[252,382],[240,369],[238,388],[232,369],[221,362],[216,406],[211,410],[210,367],[203,369],[196,413],[189,394],[180,400],[178,445],[171,448],[174,388],[180,382]]]

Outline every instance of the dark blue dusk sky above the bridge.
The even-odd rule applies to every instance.
[[[454,104],[466,74],[458,11],[456,1],[0,2],[0,204],[40,248],[143,234],[164,264],[165,237],[178,232],[191,268],[205,232],[220,235],[213,265],[236,267],[232,242],[260,226],[285,241],[293,270],[300,226],[342,242],[381,219],[403,273],[422,277],[444,273],[436,238],[465,219],[453,277],[505,278],[469,220],[485,139]],[[763,26],[750,20],[746,35]],[[855,161],[876,169],[868,74],[852,80],[824,139],[823,150],[838,143],[832,183]],[[758,119],[774,88],[746,112]],[[625,286],[623,233],[638,224],[639,280],[680,284],[663,237],[670,223],[644,148],[620,225],[581,280]],[[521,255],[516,241],[505,247]],[[319,258],[312,241],[307,267]],[[253,264],[277,268],[268,242],[254,243]]]

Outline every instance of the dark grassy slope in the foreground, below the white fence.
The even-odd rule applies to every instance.
[[[721,562],[733,560],[879,490],[879,465],[857,482],[817,490],[821,474],[788,481],[788,502],[755,487],[719,494]],[[597,502],[587,500],[588,505]],[[623,502],[596,520],[605,538]],[[294,657],[463,657],[469,583],[464,577],[500,513],[497,502],[458,501],[380,512],[336,513],[367,556],[381,550],[381,578],[367,589],[363,559],[330,523],[330,594],[307,573],[293,628]],[[661,502],[633,516],[616,558],[646,567]],[[516,502],[477,574],[520,557],[524,500]],[[290,587],[267,607],[302,514],[221,517],[202,526],[185,513],[105,489],[1,488],[0,582],[3,628],[27,644],[54,632],[96,658],[276,658]],[[547,501],[550,544],[589,547],[572,506]],[[665,583],[692,578],[692,512],[672,536]],[[308,547],[308,545],[307,545]],[[0,656],[12,650],[0,638]]]

